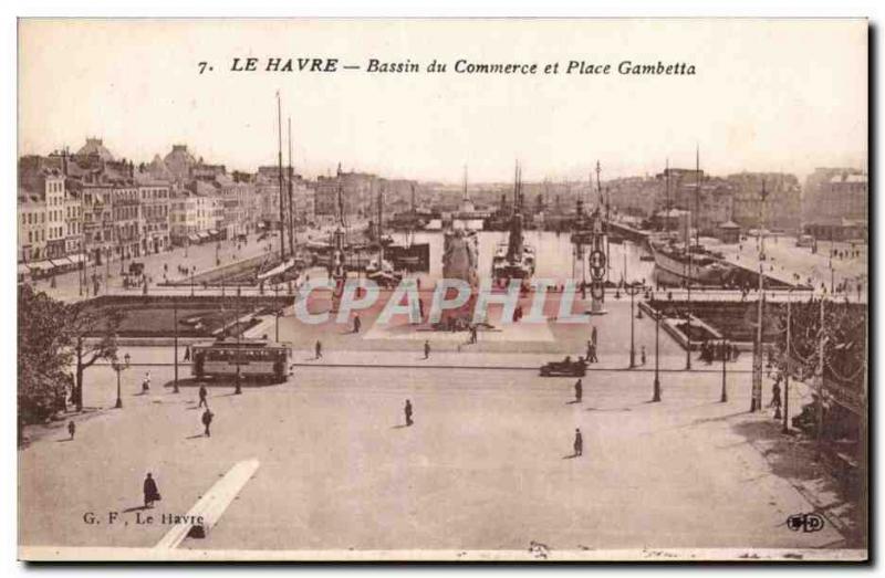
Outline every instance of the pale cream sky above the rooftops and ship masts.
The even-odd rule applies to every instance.
[[[258,57],[258,72],[233,72]],[[361,70],[264,72],[269,57]],[[446,73],[381,74],[369,59]],[[537,63],[457,74],[456,61]],[[695,75],[564,74],[569,61],[685,62]],[[199,62],[207,70],[199,73]],[[549,63],[559,74],[543,74]],[[208,66],[212,70],[209,71]],[[207,162],[277,161],[277,92],[293,161],[457,182],[603,179],[674,167],[727,175],[865,167],[864,20],[21,20],[19,154],[101,137],[150,160],[187,144]]]

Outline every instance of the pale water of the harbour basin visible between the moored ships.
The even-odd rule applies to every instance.
[[[479,235],[479,276],[488,277],[491,274],[491,261],[498,243],[506,242],[506,231],[480,231]],[[587,251],[585,248],[583,260],[574,258],[574,245],[568,233],[556,234],[551,231],[525,231],[525,243],[532,245],[537,255],[535,277],[565,281],[574,279],[590,281],[590,266],[586,264]],[[395,233],[396,242],[405,242],[405,234]],[[430,244],[430,272],[421,275],[421,282],[435,282],[442,276],[442,233],[418,232],[415,233],[416,243]],[[642,261],[639,258],[647,251],[635,243],[625,241],[611,243],[608,279],[620,282],[652,283],[655,264],[652,261]],[[583,263],[582,263],[583,262]]]

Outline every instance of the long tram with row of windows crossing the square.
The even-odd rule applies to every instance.
[[[292,346],[267,339],[218,339],[194,344],[191,372],[195,378],[235,378],[282,383],[289,375]]]

